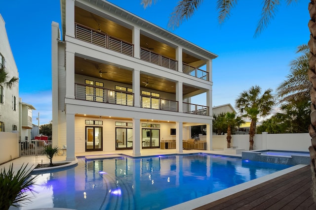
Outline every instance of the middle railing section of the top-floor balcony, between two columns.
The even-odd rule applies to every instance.
[[[178,61],[162,56],[146,48],[140,48],[140,59],[178,71]]]

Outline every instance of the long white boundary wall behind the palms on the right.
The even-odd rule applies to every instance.
[[[225,135],[213,135],[213,150],[227,148]],[[254,137],[254,150],[289,150],[309,151],[311,137],[308,133],[283,133],[283,134],[256,134]],[[231,147],[249,150],[249,134],[232,135]]]

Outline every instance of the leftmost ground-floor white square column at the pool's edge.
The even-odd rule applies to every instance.
[[[75,156],[75,114],[66,114],[66,138],[67,138],[67,161],[73,161]]]

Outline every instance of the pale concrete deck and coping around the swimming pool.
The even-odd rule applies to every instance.
[[[150,156],[150,155],[166,155],[166,154],[176,154],[176,150],[170,149],[170,150],[160,150],[160,149],[151,149],[151,150],[142,150],[142,155],[141,156]],[[224,153],[223,150],[211,150],[211,151],[206,151],[206,150],[183,150],[183,153],[181,154],[190,154],[190,153],[209,153],[209,154],[217,154],[217,155],[229,155],[229,156],[237,156],[237,157],[241,157],[241,154],[228,154],[228,153]],[[132,150],[118,150],[118,151],[113,151],[113,152],[83,152],[83,153],[77,153],[76,156],[80,157],[80,156],[95,156],[95,155],[114,155],[114,154],[125,154],[128,156],[132,156]],[[7,162],[5,164],[0,165],[1,168],[5,167],[9,167],[9,165],[13,162],[13,167],[14,169],[19,169],[21,167],[21,165],[23,163],[29,163],[29,165],[33,165],[33,168],[37,165],[40,164],[41,161],[43,162],[43,164],[45,163],[49,163],[49,159],[46,156],[23,156],[17,159],[14,159],[10,162]],[[53,163],[57,163],[57,162],[65,162],[66,161],[66,156],[63,155],[58,155],[55,156],[53,158]],[[77,164],[77,160],[76,161],[72,161],[71,164],[75,165]],[[211,202],[215,202],[217,200],[223,199],[227,196],[233,195],[234,193],[243,191],[243,190],[247,190],[250,187],[256,186],[258,184],[264,183],[266,181],[269,180],[273,180],[276,179],[282,175],[291,173],[293,171],[296,171],[298,169],[301,169],[303,167],[305,167],[306,165],[304,164],[300,164],[300,165],[296,165],[284,170],[281,170],[279,172],[273,173],[271,175],[267,175],[265,177],[262,178],[258,178],[256,180],[251,180],[239,185],[236,185],[234,187],[230,187],[206,196],[202,196],[200,198],[173,206],[173,207],[169,207],[166,210],[189,210],[189,209],[195,209],[198,207],[201,207],[203,205],[209,204]],[[58,167],[59,168],[59,167]],[[43,168],[43,170],[47,170],[47,168]],[[51,208],[50,208],[51,209]],[[11,210],[11,208],[10,208]],[[44,209],[42,209],[44,210]],[[48,209],[47,209],[48,210]]]

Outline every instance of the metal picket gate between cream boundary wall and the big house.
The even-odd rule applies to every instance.
[[[44,148],[51,147],[51,140],[31,140],[20,142],[20,155],[45,155]]]

